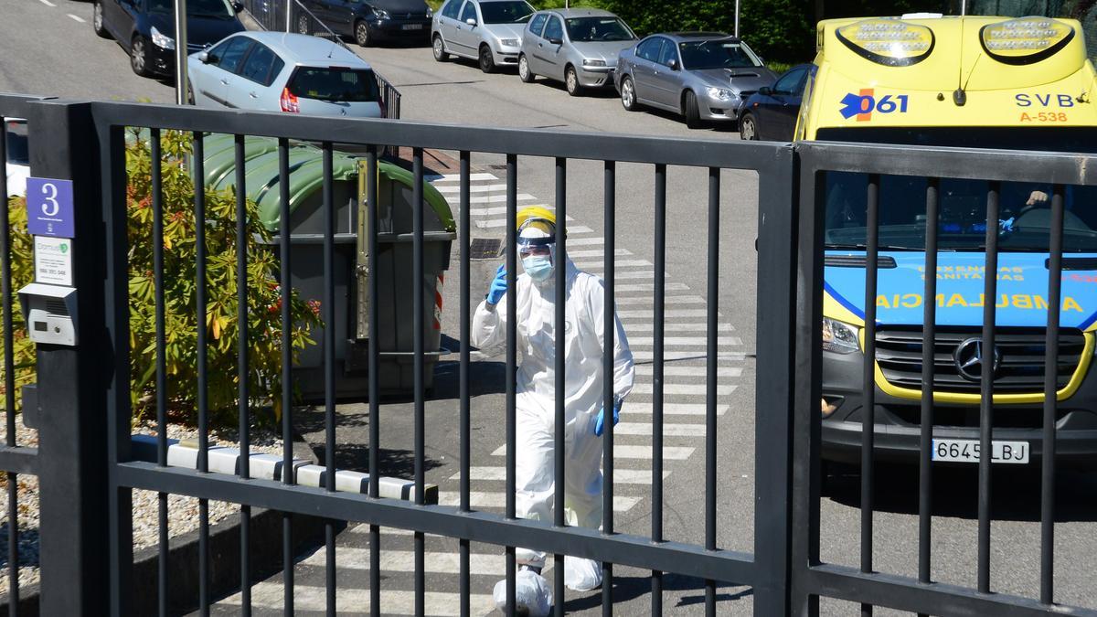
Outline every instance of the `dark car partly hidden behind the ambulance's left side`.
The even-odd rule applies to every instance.
[[[791,142],[804,88],[815,78],[815,65],[796,65],[777,78],[773,86],[759,88],[739,108],[739,137]]]

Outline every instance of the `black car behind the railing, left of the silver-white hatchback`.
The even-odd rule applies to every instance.
[[[324,27],[339,36],[351,36],[367,47],[377,41],[430,40],[433,12],[425,0],[301,0],[299,34],[317,34]],[[310,13],[310,14],[309,14]],[[315,19],[314,19],[315,18]],[[320,24],[316,24],[316,20]]]

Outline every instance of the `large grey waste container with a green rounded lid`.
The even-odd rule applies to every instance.
[[[224,144],[218,142],[225,137]],[[270,142],[270,143],[268,143]],[[206,139],[206,183],[225,189],[235,183],[231,136]],[[263,224],[281,226],[281,187],[278,146],[273,139],[249,137],[246,144],[248,197],[259,205]],[[366,268],[364,159],[343,153],[332,157],[336,205],[335,340],[336,394],[361,397],[369,393],[369,338],[377,337],[382,393],[409,394],[415,386],[412,312],[414,284],[423,285],[423,340],[427,356],[423,385],[433,388],[441,349],[442,284],[450,266],[450,249],[456,238],[453,213],[437,189],[423,182],[423,271],[412,271],[414,176],[386,161],[377,165],[377,306],[376,333],[369,327],[369,277]],[[292,260],[290,280],[301,298],[324,298],[324,177],[323,153],[308,144],[294,144],[290,152],[290,209]],[[321,313],[323,315],[323,313]],[[325,327],[330,327],[325,324]],[[323,397],[324,329],[313,333],[316,345],[299,352],[294,382],[306,400]]]

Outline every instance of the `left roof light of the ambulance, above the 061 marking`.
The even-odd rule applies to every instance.
[[[835,36],[862,58],[884,66],[911,66],[934,51],[934,31],[902,20],[874,19],[844,25]]]

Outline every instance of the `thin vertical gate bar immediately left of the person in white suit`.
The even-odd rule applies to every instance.
[[[471,155],[461,152],[461,512],[468,512],[468,474],[472,468],[472,412],[468,404],[468,362],[472,354],[470,345],[472,315],[470,310],[471,263],[468,249],[472,243],[468,207],[471,204]],[[468,540],[461,538],[461,617],[472,614],[470,594]]]

